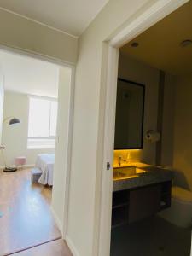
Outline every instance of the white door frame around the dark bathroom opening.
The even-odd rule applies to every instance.
[[[102,163],[98,162],[98,167],[102,166],[102,174],[100,180],[100,205],[99,205],[99,229],[98,238],[95,240],[97,248],[94,248],[94,255],[107,256],[110,255],[110,236],[111,236],[111,212],[112,212],[112,194],[113,194],[113,144],[114,144],[114,124],[115,124],[115,106],[116,106],[116,90],[117,90],[117,74],[118,74],[118,55],[119,47],[136,38],[139,34],[153,26],[166,15],[172,13],[189,0],[157,0],[151,3],[150,7],[132,20],[128,26],[118,32],[111,38],[105,46],[103,55],[106,59],[102,62],[102,68],[107,70],[107,75],[102,75],[101,95],[105,95],[105,106],[100,111],[105,113],[104,119],[101,115],[100,122],[103,127],[99,137],[103,138],[102,143]],[[106,51],[108,54],[106,54]],[[107,162],[110,163],[110,170],[107,169]],[[97,170],[97,172],[101,170]],[[95,224],[96,226],[96,224]]]

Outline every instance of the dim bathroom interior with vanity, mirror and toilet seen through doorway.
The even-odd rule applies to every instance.
[[[111,256],[190,253],[191,13],[189,1],[119,49]]]

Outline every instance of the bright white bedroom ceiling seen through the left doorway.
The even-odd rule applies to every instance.
[[[0,50],[4,89],[37,96],[57,97],[59,66]]]

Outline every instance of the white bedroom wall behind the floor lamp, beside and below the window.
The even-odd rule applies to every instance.
[[[16,156],[26,156],[26,165],[34,165],[37,154],[54,153],[54,149],[27,149],[28,132],[28,96],[14,92],[5,92],[3,118],[15,116],[20,125],[3,124],[2,143],[6,147],[4,154],[8,165],[14,163]],[[3,166],[1,163],[0,166]]]

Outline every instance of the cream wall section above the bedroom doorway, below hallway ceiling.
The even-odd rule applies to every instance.
[[[78,38],[0,9],[0,44],[75,63]]]

